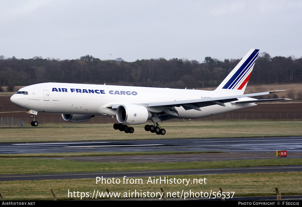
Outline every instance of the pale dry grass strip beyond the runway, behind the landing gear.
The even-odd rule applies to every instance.
[[[134,126],[133,134],[114,130],[112,124],[41,124],[38,127],[0,127],[0,142],[58,142],[128,139],[188,139],[220,137],[301,136],[301,121],[190,121],[165,122],[165,135]]]

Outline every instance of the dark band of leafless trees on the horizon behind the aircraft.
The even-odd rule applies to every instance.
[[[17,59],[0,56],[0,87],[31,85],[42,82],[114,84],[164,88],[207,88],[223,81],[240,59],[224,61],[205,57],[203,62],[173,58],[100,60],[93,56],[59,60]],[[260,53],[250,83],[300,83],[302,58]]]

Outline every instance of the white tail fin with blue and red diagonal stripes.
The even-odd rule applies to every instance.
[[[241,95],[244,93],[249,77],[257,59],[259,49],[251,49],[236,65],[215,91]]]

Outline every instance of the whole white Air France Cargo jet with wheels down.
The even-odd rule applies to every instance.
[[[197,119],[256,106],[256,102],[290,99],[255,99],[272,92],[243,94],[259,49],[251,49],[214,91],[147,88],[73,83],[39,83],[21,88],[11,102],[33,115],[61,113],[65,121],[84,122],[95,115],[117,117],[114,129],[133,133],[129,125],[144,124],[145,130],[164,135],[159,122],[168,119]]]

